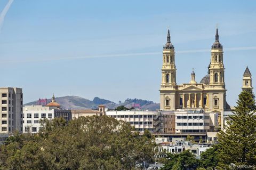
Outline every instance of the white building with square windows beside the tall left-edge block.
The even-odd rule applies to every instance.
[[[54,109],[47,106],[33,105],[23,107],[23,133],[38,133],[40,119],[53,119]]]

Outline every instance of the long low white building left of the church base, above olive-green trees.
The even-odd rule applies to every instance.
[[[145,129],[150,132],[155,131],[153,117],[156,114],[157,111],[106,111],[106,116],[129,122],[139,132],[143,132]]]

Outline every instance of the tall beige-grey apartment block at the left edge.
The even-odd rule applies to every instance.
[[[22,88],[0,88],[0,134],[22,132]]]

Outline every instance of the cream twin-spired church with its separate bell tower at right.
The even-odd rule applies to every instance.
[[[163,47],[162,83],[159,90],[161,110],[203,109],[205,112],[218,114],[219,125],[222,125],[223,112],[230,110],[230,106],[226,101],[223,47],[219,41],[218,28],[216,29],[215,42],[211,46],[210,57],[208,72],[199,83],[195,80],[196,74],[193,70],[189,83],[177,85],[175,50],[168,29],[167,42]],[[248,68],[244,72],[242,89],[252,91],[252,78]]]

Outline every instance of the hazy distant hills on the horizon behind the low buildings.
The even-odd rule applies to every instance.
[[[50,103],[52,99],[47,99],[47,103]],[[98,109],[99,104],[103,104],[106,108],[115,109],[118,106],[125,106],[126,108],[139,108],[142,110],[156,110],[159,109],[159,103],[153,101],[141,100],[141,99],[126,99],[124,102],[118,104],[106,99],[100,99],[95,97],[92,101],[84,99],[79,96],[63,96],[55,98],[55,101],[61,105],[63,109]],[[37,101],[26,103],[25,105],[36,105]]]

